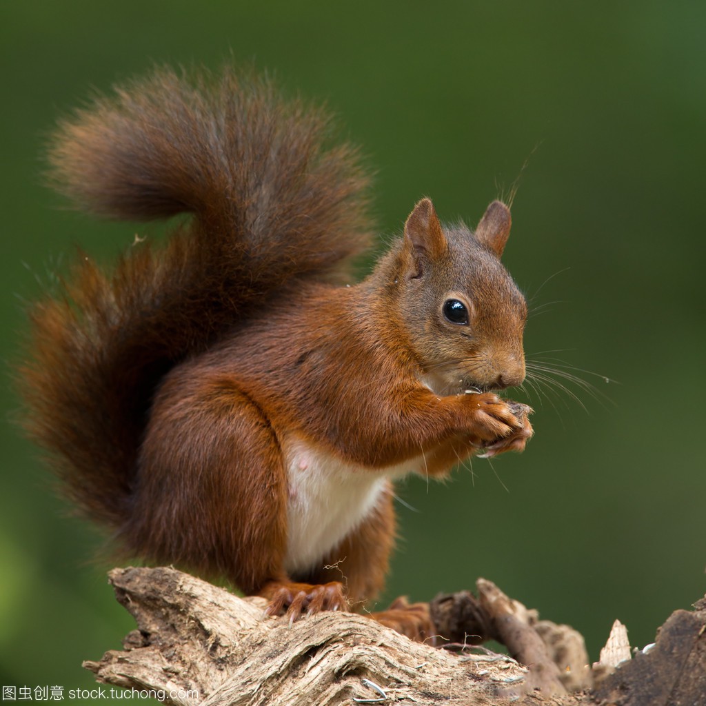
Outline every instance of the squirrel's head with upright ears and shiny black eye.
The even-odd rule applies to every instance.
[[[510,222],[493,201],[475,232],[442,227],[429,198],[407,218],[394,286],[421,379],[438,394],[525,379],[527,304],[500,261]]]

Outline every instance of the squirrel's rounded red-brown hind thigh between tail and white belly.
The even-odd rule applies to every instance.
[[[246,594],[285,578],[287,477],[267,417],[227,376],[172,374],[140,455],[131,548],[225,575]]]

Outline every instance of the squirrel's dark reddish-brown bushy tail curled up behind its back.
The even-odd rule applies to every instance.
[[[80,208],[192,215],[112,273],[81,256],[64,291],[32,310],[28,426],[90,517],[126,519],[150,399],[170,367],[268,292],[337,277],[369,245],[368,180],[353,148],[327,146],[329,128],[321,110],[232,69],[160,69],[60,124],[52,180]]]

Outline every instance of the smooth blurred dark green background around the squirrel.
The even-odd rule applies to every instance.
[[[482,575],[581,630],[593,659],[614,618],[633,645],[652,642],[706,590],[705,29],[706,4],[654,0],[5,2],[6,368],[25,301],[73,246],[109,261],[135,233],[44,189],[44,136],[92,88],[153,61],[232,54],[328,102],[377,169],[383,237],[424,195],[442,219],[474,224],[530,157],[505,255],[534,297],[527,353],[599,373],[577,373],[599,399],[569,384],[583,409],[545,388],[529,398],[537,435],[523,455],[407,481],[384,601]],[[101,535],[69,517],[21,438],[9,378],[0,683],[90,686],[81,660],[119,647],[131,618],[109,561],[92,562]]]

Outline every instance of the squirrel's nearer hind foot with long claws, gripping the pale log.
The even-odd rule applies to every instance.
[[[270,604],[265,609],[266,614],[287,616],[290,623],[298,621],[304,614],[348,609],[343,586],[338,581],[321,585],[273,581],[265,587],[261,595],[270,599]]]

